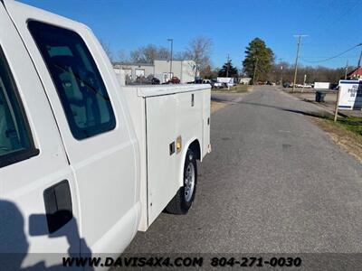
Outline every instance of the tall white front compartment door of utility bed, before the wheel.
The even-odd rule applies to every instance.
[[[148,225],[176,194],[176,95],[146,98]]]

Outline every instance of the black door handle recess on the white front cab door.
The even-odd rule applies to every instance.
[[[69,182],[64,180],[47,188],[43,192],[43,199],[49,233],[53,233],[73,217]]]

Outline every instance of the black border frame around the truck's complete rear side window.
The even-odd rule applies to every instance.
[[[38,49],[38,51],[39,51],[39,53],[40,53],[40,55],[41,55],[41,57],[43,59],[44,65],[45,65],[46,69],[48,70],[49,76],[52,79],[53,87],[56,90],[59,101],[61,102],[63,114],[64,114],[64,116],[65,116],[65,118],[67,120],[67,124],[68,124],[68,127],[69,127],[70,131],[71,131],[72,137],[74,139],[78,140],[78,141],[82,141],[82,140],[90,139],[91,137],[95,137],[95,136],[98,136],[98,135],[103,135],[103,134],[106,134],[106,133],[109,133],[109,132],[115,130],[117,128],[117,117],[116,117],[114,106],[112,105],[111,98],[110,98],[110,95],[109,95],[110,92],[109,92],[109,90],[107,88],[106,81],[103,79],[103,76],[100,73],[99,65],[96,62],[96,60],[94,59],[88,44],[85,42],[85,40],[81,36],[81,33],[77,33],[73,29],[70,29],[70,28],[67,28],[67,27],[64,27],[64,26],[60,26],[60,25],[52,24],[52,23],[47,23],[47,22],[43,22],[43,21],[38,21],[38,20],[34,20],[34,19],[28,20],[26,23],[27,23],[28,31],[31,34],[32,38],[33,38],[33,42],[35,43],[36,48]],[[30,26],[31,23],[40,23],[40,24],[43,24],[45,26],[58,28],[61,31],[68,31],[68,32],[74,33],[81,39],[81,42],[84,44],[85,49],[89,52],[90,57],[91,57],[91,60],[89,60],[89,61],[94,63],[94,68],[97,70],[97,72],[100,75],[100,80],[101,80],[102,85],[104,86],[105,93],[107,94],[107,97],[110,99],[110,111],[109,111],[109,113],[110,113],[110,121],[107,122],[107,123],[103,123],[100,126],[92,127],[92,130],[94,130],[94,131],[92,131],[90,135],[88,135],[88,136],[81,135],[80,132],[84,133],[84,131],[86,131],[87,129],[80,128],[79,126],[77,126],[75,124],[74,119],[69,117],[69,115],[71,114],[71,112],[69,111],[70,104],[65,104],[64,105],[64,101],[67,102],[67,103],[68,103],[68,101],[64,100],[64,98],[62,97],[63,94],[60,93],[60,91],[59,91],[59,89],[57,87],[58,86],[58,84],[56,82],[57,79],[54,79],[53,76],[52,76],[52,72],[50,70],[49,63],[48,63],[47,59],[44,57],[44,55],[43,55],[43,52],[42,52],[42,49],[40,47],[39,42],[37,41],[37,39],[33,35],[33,31],[32,31],[31,26]],[[103,128],[103,127],[107,127],[107,126],[109,126],[109,127],[108,128]]]

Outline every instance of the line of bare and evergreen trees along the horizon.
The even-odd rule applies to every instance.
[[[170,60],[170,51],[166,47],[148,44],[135,50],[120,50],[116,55],[110,51],[110,45],[101,42],[104,50],[109,55],[112,62],[121,63],[152,63],[155,60]],[[264,41],[255,38],[245,48],[245,58],[242,62],[243,68],[238,70],[233,66],[232,60],[226,61],[221,68],[214,68],[211,62],[213,41],[210,38],[199,36],[188,42],[184,51],[173,53],[172,59],[175,61],[192,60],[195,61],[196,70],[200,71],[200,76],[205,79],[216,77],[249,77],[257,81],[271,82],[292,82],[294,77],[294,65],[286,61],[275,62],[275,54]],[[348,67],[348,71],[355,67]],[[297,83],[303,83],[306,76],[306,83],[315,81],[338,82],[343,79],[346,69],[330,69],[322,66],[298,66]]]

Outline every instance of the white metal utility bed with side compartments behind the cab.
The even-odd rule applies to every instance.
[[[122,87],[139,143],[139,230],[148,229],[183,185],[187,146],[201,139],[200,160],[210,151],[210,90],[209,85]]]

